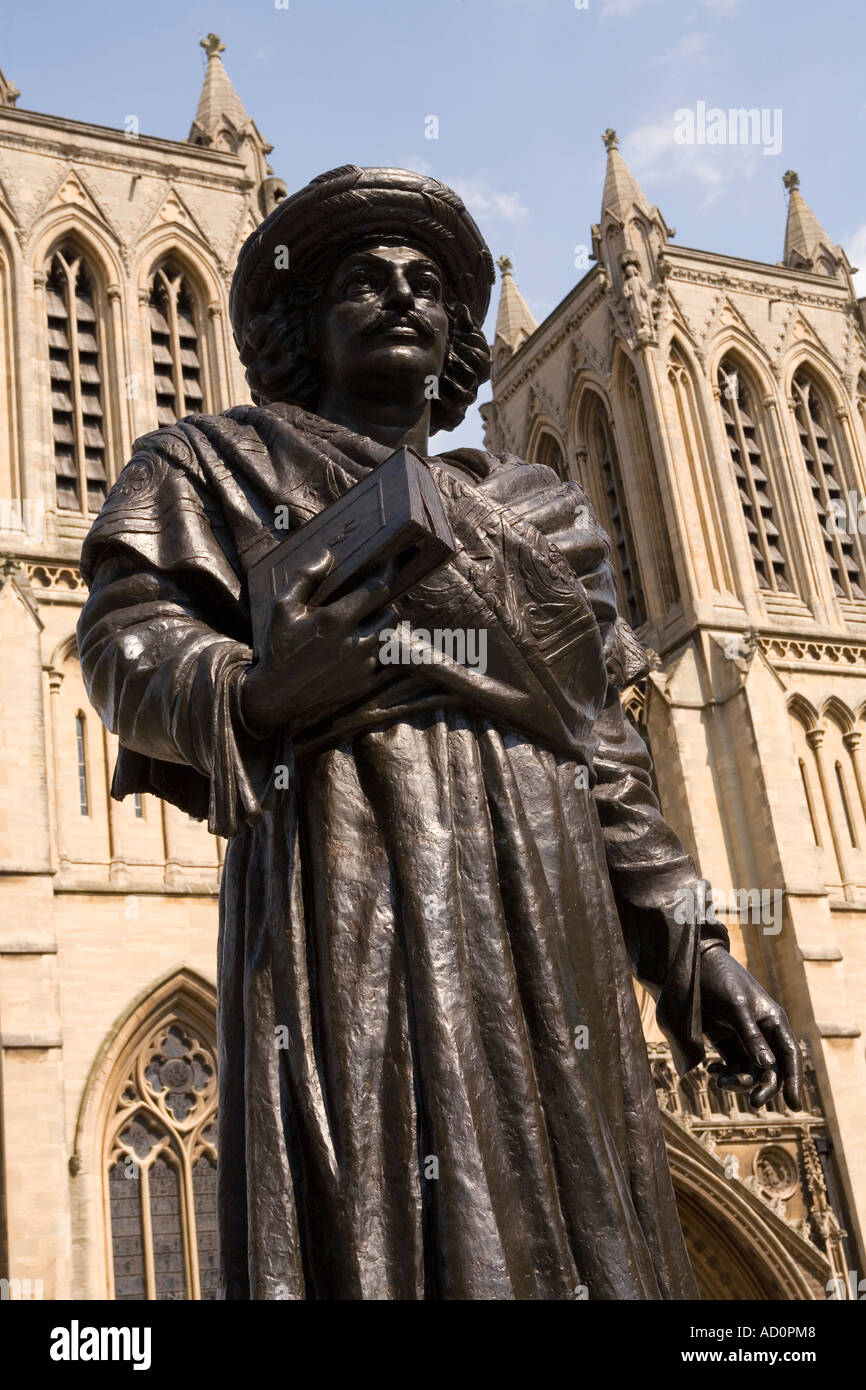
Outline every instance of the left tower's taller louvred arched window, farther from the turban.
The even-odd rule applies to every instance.
[[[107,489],[103,354],[95,282],[74,246],[51,257],[46,306],[57,506],[90,516]]]

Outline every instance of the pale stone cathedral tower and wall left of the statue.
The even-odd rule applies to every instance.
[[[18,108],[0,79],[0,1276],[213,1294],[222,847],[110,799],[75,655],[81,542],[132,442],[249,400],[238,250],[285,193],[203,40],[185,140]],[[133,1180],[129,1180],[133,1179]],[[18,1283],[15,1283],[18,1282]]]

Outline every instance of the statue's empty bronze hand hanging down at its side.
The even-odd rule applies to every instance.
[[[748,1091],[759,1109],[783,1090],[791,1109],[802,1108],[802,1058],[785,1011],[762,990],[724,947],[701,958],[703,1031],[721,1062],[710,1062],[716,1084]]]

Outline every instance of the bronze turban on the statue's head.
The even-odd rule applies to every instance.
[[[342,250],[379,236],[425,250],[448,289],[482,324],[493,285],[493,259],[463,202],[438,179],[410,170],[342,168],[320,174],[284,199],[240,247],[229,314],[240,348],[254,314],[271,307],[286,275],[321,274]],[[279,249],[288,249],[288,270]],[[285,261],[282,263],[285,264]]]

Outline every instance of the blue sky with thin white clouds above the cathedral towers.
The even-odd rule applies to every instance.
[[[866,267],[862,0],[7,0],[0,68],[21,107],[182,139],[209,31],[289,190],[338,164],[428,170],[539,320],[582,274],[609,125],[681,245],[778,260],[795,168]],[[674,113],[698,101],[781,111],[780,150],[677,145]],[[481,442],[475,411],[449,442]]]

